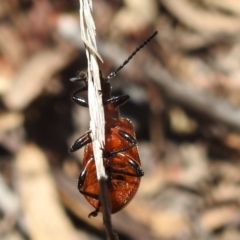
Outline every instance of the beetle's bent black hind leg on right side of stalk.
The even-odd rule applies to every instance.
[[[144,175],[144,172],[138,162],[136,162],[131,158],[128,158],[127,163],[135,171],[135,173],[131,173],[124,170],[118,170],[118,169],[115,169],[114,167],[108,167],[107,170],[110,173],[118,173],[118,174],[123,174],[127,176],[133,176],[133,177],[142,177]]]

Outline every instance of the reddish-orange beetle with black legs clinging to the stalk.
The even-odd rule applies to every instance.
[[[132,122],[126,118],[121,118],[119,107],[129,100],[128,95],[112,96],[109,80],[116,76],[130,59],[144,47],[157,32],[143,42],[124,63],[107,78],[100,72],[101,94],[105,115],[105,146],[103,149],[103,164],[107,175],[107,189],[111,204],[111,213],[116,213],[125,207],[136,194],[140,179],[144,175],[138,154],[137,140]],[[72,95],[72,100],[82,107],[88,107],[88,101],[79,94],[88,90],[87,74],[80,72],[76,78],[70,79],[73,82],[82,81],[84,86],[76,90]],[[102,211],[99,200],[99,182],[96,174],[96,165],[93,155],[91,131],[87,131],[78,138],[70,152],[74,152],[82,147],[84,149],[83,169],[78,178],[78,190],[84,195],[87,201],[95,208],[89,214],[97,216]]]

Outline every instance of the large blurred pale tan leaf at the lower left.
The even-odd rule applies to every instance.
[[[77,240],[50,173],[46,156],[33,144],[16,158],[16,186],[32,240]]]

